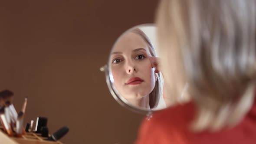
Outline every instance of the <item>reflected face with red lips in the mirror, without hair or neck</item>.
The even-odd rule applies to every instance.
[[[115,87],[126,99],[139,99],[154,89],[156,77],[148,44],[136,33],[118,39],[112,50],[112,74]]]

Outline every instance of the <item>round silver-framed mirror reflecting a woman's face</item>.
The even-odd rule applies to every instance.
[[[143,24],[122,33],[104,67],[113,97],[121,105],[140,113],[166,108],[164,79],[157,69],[156,30],[154,24]]]

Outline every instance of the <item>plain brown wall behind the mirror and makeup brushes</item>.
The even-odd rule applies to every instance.
[[[143,115],[122,108],[99,68],[126,29],[154,21],[155,0],[0,1],[0,90],[26,122],[68,125],[66,144],[130,144]]]

